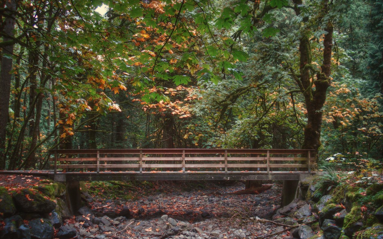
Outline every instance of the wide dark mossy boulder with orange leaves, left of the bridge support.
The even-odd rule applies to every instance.
[[[22,189],[13,194],[17,208],[27,213],[50,213],[56,208],[56,203],[37,192]]]

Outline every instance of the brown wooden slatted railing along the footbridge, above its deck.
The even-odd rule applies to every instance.
[[[283,149],[95,149],[51,150],[54,172],[308,171],[312,150]]]

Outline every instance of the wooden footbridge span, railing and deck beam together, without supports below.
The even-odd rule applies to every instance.
[[[316,167],[312,150],[95,149],[50,153],[57,181],[299,180],[301,174]]]

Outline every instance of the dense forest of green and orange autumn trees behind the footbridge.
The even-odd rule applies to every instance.
[[[1,5],[0,169],[43,169],[54,148],[382,164],[382,0]]]

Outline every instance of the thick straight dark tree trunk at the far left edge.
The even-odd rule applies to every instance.
[[[8,0],[6,2],[6,12],[9,14],[4,21],[3,33],[10,37],[4,37],[3,42],[12,41],[11,37],[14,36],[15,30],[15,18],[13,11],[16,11],[16,1]],[[8,11],[9,9],[10,11]],[[11,70],[12,70],[12,58],[13,55],[13,43],[4,46],[2,49],[2,61],[0,70],[0,169],[5,169],[5,140],[7,136],[6,125],[8,122],[8,106],[11,92]],[[4,55],[8,56],[5,57]]]

